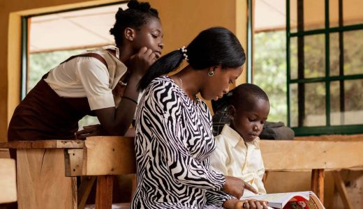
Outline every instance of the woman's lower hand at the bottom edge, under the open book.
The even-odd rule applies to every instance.
[[[229,199],[223,203],[223,207],[227,209],[267,209],[267,203],[267,201],[258,201],[255,199],[246,199],[244,201]]]

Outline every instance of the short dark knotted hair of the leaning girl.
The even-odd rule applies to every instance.
[[[126,28],[130,27],[139,30],[152,17],[159,19],[158,10],[151,8],[147,2],[131,0],[127,3],[127,6],[126,10],[119,8],[115,15],[116,22],[113,28],[110,29],[110,33],[114,36],[114,42],[116,42],[117,46],[122,44],[123,33]]]

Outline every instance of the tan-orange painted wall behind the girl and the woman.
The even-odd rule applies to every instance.
[[[8,122],[20,102],[20,23],[22,15],[109,3],[112,0],[0,1],[0,141],[6,141]],[[246,48],[244,0],[149,0],[158,9],[165,31],[165,52],[177,49],[211,26],[237,33]],[[246,72],[237,84],[246,80]]]

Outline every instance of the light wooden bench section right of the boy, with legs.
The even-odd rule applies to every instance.
[[[265,169],[312,171],[311,190],[324,201],[324,171],[333,171],[345,208],[352,208],[339,171],[363,169],[363,135],[297,137],[292,141],[261,140]]]

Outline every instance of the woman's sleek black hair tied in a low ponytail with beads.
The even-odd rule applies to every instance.
[[[158,59],[140,80],[139,90],[142,91],[150,82],[161,75],[176,70],[186,54],[188,63],[195,70],[202,70],[216,65],[222,68],[237,68],[244,64],[246,55],[239,40],[228,29],[214,27],[202,31],[186,47],[187,52],[177,49]]]

